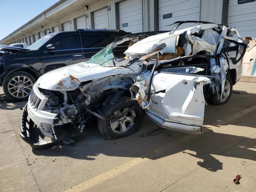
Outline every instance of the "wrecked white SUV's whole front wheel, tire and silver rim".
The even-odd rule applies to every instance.
[[[131,102],[129,97],[121,97],[114,105],[107,104],[102,108],[102,113],[109,118],[98,118],[98,129],[106,139],[126,137],[137,132],[142,125],[143,111],[137,102],[132,102],[133,108],[126,102]],[[115,119],[121,117],[119,119]]]

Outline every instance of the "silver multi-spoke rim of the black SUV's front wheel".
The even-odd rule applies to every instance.
[[[8,82],[8,91],[16,98],[25,98],[29,96],[32,87],[32,80],[26,76],[16,76]]]

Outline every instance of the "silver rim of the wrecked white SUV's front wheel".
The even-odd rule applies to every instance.
[[[114,114],[111,116],[111,118],[118,117],[118,116],[124,114],[127,110],[128,110],[128,108],[124,108],[123,110],[117,110],[116,112],[114,112]],[[113,132],[118,133],[118,134],[128,132],[134,126],[135,119],[136,119],[136,114],[135,114],[134,110],[130,110],[122,118],[120,118],[116,121],[110,121],[110,128]]]

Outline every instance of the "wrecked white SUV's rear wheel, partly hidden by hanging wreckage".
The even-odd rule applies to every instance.
[[[228,102],[228,100],[230,99],[230,97],[231,97],[232,90],[233,90],[232,79],[230,78],[230,76],[226,76],[224,90],[223,90],[223,93],[222,93],[221,100],[216,94],[214,94],[214,95],[211,95],[210,102],[214,105],[226,104]]]

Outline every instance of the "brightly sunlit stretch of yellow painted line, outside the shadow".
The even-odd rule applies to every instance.
[[[76,185],[68,190],[66,192],[78,192],[78,191],[84,191],[87,190],[88,188],[95,186],[96,184],[102,183],[110,178],[113,178],[119,174],[122,174],[123,172],[128,171],[130,168],[141,164],[142,162],[148,160],[148,158],[135,158],[125,164],[122,164],[112,170],[109,170],[107,172],[104,172],[92,179],[89,179],[85,182],[82,182],[79,185]]]

